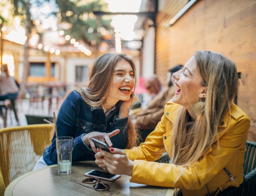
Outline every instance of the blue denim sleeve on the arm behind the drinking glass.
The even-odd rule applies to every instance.
[[[79,98],[78,93],[71,92],[67,95],[67,98],[64,100],[61,108],[58,112],[57,117],[57,130],[58,137],[61,136],[71,136],[74,138],[76,134],[76,118],[79,110]],[[83,141],[84,133],[77,136],[73,139],[73,153],[72,160],[76,161],[82,155],[92,151]],[[52,139],[52,144],[49,150],[49,159],[52,164],[57,164],[57,152],[56,152],[56,135],[54,134]]]

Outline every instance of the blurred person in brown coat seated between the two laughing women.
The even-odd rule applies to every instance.
[[[149,103],[148,107],[135,114],[135,127],[140,133],[140,142],[144,142],[145,138],[151,133],[157,123],[163,116],[164,107],[166,103],[172,99],[175,95],[175,91],[178,89],[174,86],[173,73],[179,71],[182,65],[172,67],[167,74],[168,89],[162,93],[156,95]]]

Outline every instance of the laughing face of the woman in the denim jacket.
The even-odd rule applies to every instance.
[[[107,103],[114,105],[117,101],[128,101],[134,88],[134,70],[125,60],[117,61],[109,86]]]

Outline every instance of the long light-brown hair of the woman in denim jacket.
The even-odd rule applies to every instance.
[[[109,84],[111,83],[113,72],[115,69],[115,65],[118,61],[125,60],[130,65],[134,71],[134,78],[136,85],[136,66],[131,57],[126,55],[125,53],[117,53],[117,52],[106,52],[103,55],[99,56],[92,65],[92,70],[90,72],[90,80],[89,83],[85,82],[80,86],[76,87],[76,89],[71,89],[66,93],[66,96],[73,91],[76,90],[82,96],[84,101],[94,107],[99,107],[105,104],[107,95],[109,92]],[[122,102],[118,102],[116,104],[116,108],[119,110]],[[134,128],[133,123],[131,122],[130,117],[128,116],[128,130],[127,130],[127,144],[126,148],[132,148],[137,146],[137,131]]]

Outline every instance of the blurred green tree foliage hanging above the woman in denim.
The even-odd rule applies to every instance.
[[[56,0],[61,13],[61,22],[72,24],[70,29],[65,30],[65,34],[72,35],[76,40],[82,40],[88,45],[91,45],[92,40],[95,40],[96,44],[101,43],[103,35],[99,32],[99,27],[103,27],[106,30],[113,29],[110,25],[110,18],[106,19],[93,15],[95,11],[106,9],[107,4],[101,2],[100,0],[72,0],[72,2],[69,0]]]

